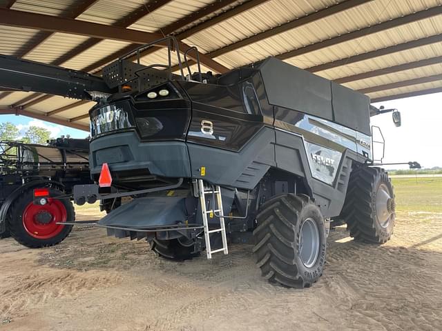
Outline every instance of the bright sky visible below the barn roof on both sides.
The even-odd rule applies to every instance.
[[[372,117],[372,125],[379,126],[385,139],[384,163],[417,161],[423,168],[442,167],[442,93],[427,94],[400,100],[374,103],[374,106],[397,108],[402,126],[396,128],[392,114]],[[51,137],[70,134],[73,138],[88,137],[88,132],[59,126],[23,116],[0,115],[0,121],[10,121],[23,134],[29,126],[50,130]],[[377,155],[380,146],[374,146]],[[385,166],[387,169],[407,169],[407,165]]]

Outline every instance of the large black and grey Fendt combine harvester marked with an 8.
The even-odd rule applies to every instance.
[[[370,113],[387,110],[274,58],[191,74],[175,39],[159,42],[169,63],[133,62],[148,44],[102,78],[1,57],[1,86],[97,101],[89,163],[98,185],[73,191],[76,203],[102,199],[112,210],[98,226],[176,260],[254,242],[262,275],[289,287],[323,274],[330,219],[355,240],[390,239],[394,191],[374,166],[370,128]]]

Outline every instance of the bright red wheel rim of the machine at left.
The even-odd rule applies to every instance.
[[[36,239],[50,239],[63,230],[64,225],[57,222],[66,222],[67,211],[59,200],[48,199],[46,205],[28,203],[21,217],[26,232]]]

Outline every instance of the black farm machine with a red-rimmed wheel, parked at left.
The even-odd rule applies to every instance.
[[[88,152],[88,139],[61,137],[48,146],[0,141],[1,237],[11,235],[30,248],[63,241],[72,225],[57,223],[75,220],[73,204],[46,197],[72,194],[74,185],[92,183]]]

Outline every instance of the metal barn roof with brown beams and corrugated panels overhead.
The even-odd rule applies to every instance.
[[[374,102],[442,92],[442,0],[0,0],[0,54],[94,74],[167,34],[213,72],[274,56]],[[82,130],[92,105],[0,92],[0,114]]]

